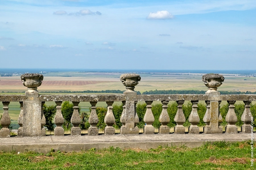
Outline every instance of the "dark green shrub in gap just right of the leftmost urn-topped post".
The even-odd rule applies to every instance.
[[[55,124],[53,122],[54,115],[56,114],[56,105],[43,105],[43,111],[44,111],[44,116],[46,120],[45,126],[47,127],[48,131],[54,131]]]

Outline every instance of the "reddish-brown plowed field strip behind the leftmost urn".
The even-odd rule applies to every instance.
[[[107,83],[111,81],[43,81],[42,85],[91,85],[97,83]],[[22,85],[21,80],[1,80],[0,85]]]

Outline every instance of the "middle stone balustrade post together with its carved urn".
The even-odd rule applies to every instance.
[[[120,76],[120,80],[123,85],[126,86],[124,95],[126,96],[125,111],[121,117],[121,123],[123,124],[120,130],[121,134],[139,134],[138,115],[136,114],[136,96],[134,91],[135,85],[139,84],[141,77],[139,74],[127,73]]]

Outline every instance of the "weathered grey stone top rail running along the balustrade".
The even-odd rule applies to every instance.
[[[20,102],[27,98],[25,95],[0,95],[1,102]],[[40,101],[76,101],[76,102],[105,102],[126,101],[124,94],[68,94],[68,95],[39,95]],[[134,101],[179,101],[179,100],[210,100],[208,94],[149,94],[136,95]],[[222,94],[221,101],[256,101],[256,94]]]

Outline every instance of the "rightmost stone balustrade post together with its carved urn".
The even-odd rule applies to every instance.
[[[219,101],[221,100],[220,92],[217,92],[217,87],[222,85],[224,77],[221,74],[205,74],[202,76],[204,85],[208,87],[208,94],[210,101],[210,124],[204,129],[204,133],[222,133],[222,127],[219,126]],[[208,115],[209,116],[209,115]]]

